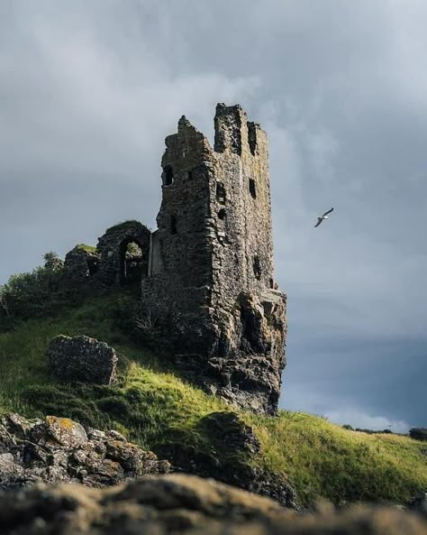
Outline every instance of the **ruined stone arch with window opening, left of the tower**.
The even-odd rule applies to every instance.
[[[98,277],[103,286],[118,286],[148,275],[150,255],[150,230],[139,221],[125,221],[108,228],[99,238],[97,250],[101,255]],[[136,244],[141,255],[128,263],[126,252],[129,244]],[[131,264],[133,264],[131,266]],[[129,278],[129,269],[132,277]]]

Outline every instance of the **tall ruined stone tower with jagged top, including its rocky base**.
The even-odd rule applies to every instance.
[[[166,138],[141,325],[204,389],[274,413],[286,296],[274,279],[267,135],[238,105],[219,104],[214,125],[213,148],[184,116]]]

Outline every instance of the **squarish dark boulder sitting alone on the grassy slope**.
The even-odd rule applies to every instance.
[[[50,372],[65,381],[111,384],[116,379],[117,355],[113,347],[95,338],[53,338],[48,347]]]

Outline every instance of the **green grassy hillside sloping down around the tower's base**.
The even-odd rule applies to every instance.
[[[86,300],[58,318],[27,321],[0,334],[0,411],[27,416],[56,414],[83,423],[114,426],[156,451],[174,436],[210,447],[196,428],[214,410],[230,407],[168,372],[156,357],[132,345],[119,328],[126,298]],[[100,338],[121,361],[115,387],[68,385],[47,374],[45,351],[59,334]],[[395,435],[352,432],[309,414],[281,411],[278,418],[241,416],[252,425],[262,450],[252,463],[288,475],[302,503],[386,499],[403,503],[427,490],[425,443]]]

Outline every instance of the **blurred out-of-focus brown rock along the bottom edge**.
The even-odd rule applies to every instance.
[[[188,475],[112,489],[37,485],[0,493],[2,535],[425,535],[421,517],[391,508],[286,512],[267,498]]]

